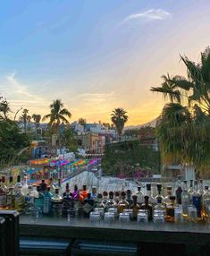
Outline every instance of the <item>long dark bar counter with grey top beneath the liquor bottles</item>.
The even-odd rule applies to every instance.
[[[164,254],[170,255],[210,255],[209,224],[153,223],[139,224],[131,221],[112,225],[104,222],[93,224],[89,219],[77,219],[68,222],[67,218],[39,218],[31,222],[28,216],[20,217],[20,235],[24,237],[69,238],[72,241],[86,239],[92,241],[137,243],[139,255],[159,255],[155,248],[162,247]],[[152,245],[152,246],[150,246]],[[153,249],[152,249],[153,248]],[[152,250],[152,251],[151,251]],[[175,251],[174,251],[175,250]],[[163,252],[163,251],[162,251]]]

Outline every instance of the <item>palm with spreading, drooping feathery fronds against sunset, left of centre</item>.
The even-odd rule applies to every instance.
[[[58,133],[61,121],[64,124],[69,124],[69,121],[65,118],[65,116],[71,118],[71,113],[68,109],[63,108],[64,105],[61,99],[55,99],[49,107],[50,114],[44,115],[42,121],[45,122],[46,119],[50,119],[49,125],[51,128],[55,126],[55,132]]]

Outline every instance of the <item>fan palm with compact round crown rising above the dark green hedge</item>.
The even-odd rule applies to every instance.
[[[111,120],[116,127],[119,141],[122,140],[122,130],[124,128],[124,124],[129,119],[129,116],[126,114],[127,112],[122,107],[115,108],[111,114]]]

